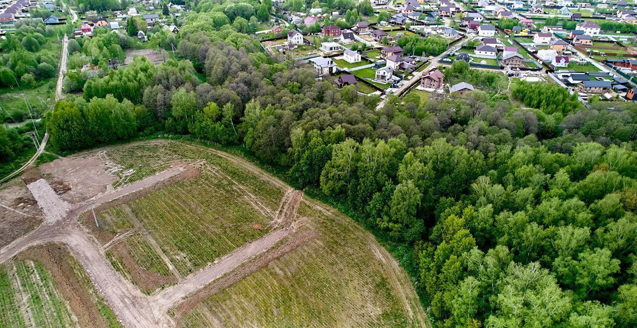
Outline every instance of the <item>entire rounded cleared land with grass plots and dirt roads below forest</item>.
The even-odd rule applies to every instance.
[[[78,181],[90,165],[81,171],[66,164],[91,158],[87,163],[111,178],[87,179],[94,196],[69,204],[57,220],[50,220],[49,206],[64,202],[35,192],[38,202],[46,201],[44,222],[51,223],[1,248],[2,266],[22,260],[15,255],[29,246],[66,243],[78,261],[59,271],[83,273],[82,266],[90,277],[83,281],[131,326],[429,325],[408,276],[371,234],[245,159],[194,143],[146,141],[55,160],[54,168],[65,169],[44,178]],[[35,181],[29,189],[50,188]],[[84,189],[78,182],[58,194]],[[143,280],[148,276],[159,278]],[[82,304],[106,313],[100,318],[109,322],[110,311],[97,301]],[[59,321],[44,326],[85,326],[73,301],[69,315],[58,303],[47,304],[31,310],[59,313]]]

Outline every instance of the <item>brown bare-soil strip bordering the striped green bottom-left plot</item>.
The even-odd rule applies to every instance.
[[[78,275],[80,266],[66,246],[57,243],[34,246],[18,254],[17,258],[39,262],[51,272],[55,285],[69,302],[80,327],[108,327],[96,306],[96,294],[89,290],[92,289],[90,281]]]

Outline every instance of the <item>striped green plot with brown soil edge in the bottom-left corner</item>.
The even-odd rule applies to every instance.
[[[80,264],[60,245],[0,265],[3,327],[121,327]]]

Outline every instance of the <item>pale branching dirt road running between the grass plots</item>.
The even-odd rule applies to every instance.
[[[283,223],[281,229],[241,246],[216,261],[215,264],[183,278],[178,285],[168,287],[153,296],[147,296],[113,269],[104,253],[104,246],[82,229],[77,219],[83,212],[99,204],[133,193],[142,192],[143,194],[144,191],[185,171],[187,171],[185,166],[178,166],[129,183],[119,189],[107,190],[76,206],[60,199],[46,180],[37,180],[27,187],[38,201],[38,205],[43,208],[45,224],[0,249],[0,263],[11,259],[29,246],[50,241],[65,243],[82,264],[97,292],[104,297],[122,325],[125,327],[173,326],[175,323],[166,311],[181,303],[184,297],[196,293],[217,278],[246,264],[248,260],[268,251],[289,236],[294,230],[291,228],[292,220],[296,217],[296,210],[303,196],[302,192],[294,190],[288,193],[290,197],[285,200],[285,204],[282,203],[280,211],[281,223]]]

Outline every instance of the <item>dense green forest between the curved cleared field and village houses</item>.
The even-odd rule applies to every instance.
[[[504,76],[454,64],[445,78],[483,90],[375,110],[378,96],[265,55],[233,24],[256,6],[229,6],[199,3],[177,59],[80,76],[83,94],[46,117],[52,145],[169,133],[245,147],[387,243],[436,327],[637,325],[636,105],[509,96]],[[117,50],[91,43],[77,51]]]

